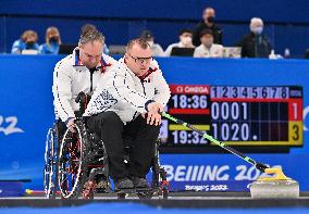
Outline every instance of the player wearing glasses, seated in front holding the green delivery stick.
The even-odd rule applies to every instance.
[[[103,141],[115,190],[149,187],[146,175],[159,137],[159,112],[171,96],[158,67],[149,43],[131,40],[124,58],[99,80],[83,115],[89,131]],[[126,143],[128,166],[124,163]]]

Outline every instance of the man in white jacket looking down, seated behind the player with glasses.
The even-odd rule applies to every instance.
[[[74,124],[74,119],[84,113],[100,78],[116,63],[113,58],[103,54],[103,35],[95,28],[89,28],[82,33],[78,47],[73,53],[55,64],[52,92],[60,139],[66,127]],[[87,96],[83,101],[85,106],[82,108],[75,102],[81,92]]]

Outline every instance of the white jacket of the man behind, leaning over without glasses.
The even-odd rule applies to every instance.
[[[97,71],[92,74],[81,63],[79,50],[74,49],[73,53],[59,61],[53,71],[53,105],[55,118],[66,122],[67,118],[75,117],[74,111],[79,110],[79,104],[75,98],[81,91],[91,93],[102,76],[109,72],[116,61],[103,54]]]

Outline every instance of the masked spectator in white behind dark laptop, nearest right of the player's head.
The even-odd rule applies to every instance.
[[[193,32],[190,29],[182,29],[180,32],[180,42],[170,45],[165,50],[165,56],[171,56],[173,48],[195,48],[193,45]]]

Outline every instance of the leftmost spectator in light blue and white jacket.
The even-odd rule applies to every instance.
[[[21,39],[14,41],[11,53],[38,53],[39,45],[37,43],[38,35],[36,32],[28,29],[24,32]],[[25,51],[27,50],[27,51]]]

